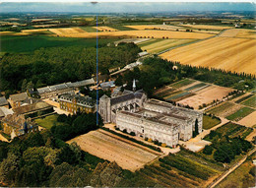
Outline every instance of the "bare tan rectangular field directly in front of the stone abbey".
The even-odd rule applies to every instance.
[[[160,153],[103,130],[91,131],[68,141],[72,142],[76,142],[82,150],[96,157],[116,161],[122,168],[131,171],[160,156]]]

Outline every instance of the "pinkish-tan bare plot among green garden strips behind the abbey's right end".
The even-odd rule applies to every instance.
[[[200,89],[200,87],[198,88]],[[191,89],[192,88],[188,88],[187,90],[191,90]],[[179,100],[178,103],[189,105],[198,109],[199,105],[202,105],[203,103],[206,103],[206,104],[211,103],[213,100],[216,100],[216,99],[221,100],[226,94],[232,91],[233,90],[229,88],[224,88],[219,86],[210,86],[210,87],[206,87],[203,90],[199,90],[195,92],[194,93],[195,95]]]

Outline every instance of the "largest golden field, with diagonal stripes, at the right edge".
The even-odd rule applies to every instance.
[[[215,67],[256,75],[256,40],[214,37],[161,54],[164,59],[193,66]]]

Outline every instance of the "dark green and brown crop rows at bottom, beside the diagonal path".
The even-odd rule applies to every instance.
[[[138,171],[139,179],[155,180],[158,187],[207,187],[224,170],[200,155],[181,150]]]

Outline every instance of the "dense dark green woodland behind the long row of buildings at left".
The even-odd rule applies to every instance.
[[[109,68],[132,63],[140,51],[133,43],[99,46],[98,70],[107,74]],[[25,80],[32,82],[35,88],[76,82],[96,74],[96,47],[51,47],[31,54],[5,54],[0,67],[0,90],[7,94],[21,91]]]

